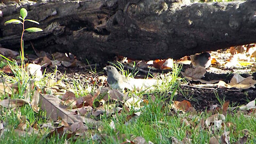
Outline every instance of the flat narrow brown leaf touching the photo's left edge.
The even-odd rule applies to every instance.
[[[21,107],[28,103],[29,101],[25,99],[6,99],[0,101],[0,105],[5,108]]]

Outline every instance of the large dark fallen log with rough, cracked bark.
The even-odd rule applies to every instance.
[[[21,7],[44,29],[26,33],[25,46],[71,52],[79,59],[105,61],[178,59],[202,51],[256,42],[256,1],[188,3],[179,0],[38,1],[0,5],[0,44],[19,47]],[[26,22],[26,27],[35,24]]]

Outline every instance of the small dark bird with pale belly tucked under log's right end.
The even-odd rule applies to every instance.
[[[211,65],[211,54],[208,52],[190,55],[190,59],[194,67],[201,66],[207,68]]]

